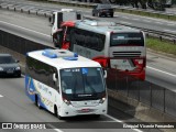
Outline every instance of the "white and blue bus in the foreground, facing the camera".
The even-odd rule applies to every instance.
[[[107,113],[107,72],[95,61],[67,50],[26,54],[25,92],[56,117]]]

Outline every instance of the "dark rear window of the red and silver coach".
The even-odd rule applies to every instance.
[[[110,46],[144,46],[144,37],[142,33],[113,33],[110,43]]]

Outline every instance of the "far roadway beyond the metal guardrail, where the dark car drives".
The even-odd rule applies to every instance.
[[[20,1],[20,2],[16,2],[16,1]],[[36,7],[36,8],[42,8],[44,10],[58,10],[58,9],[65,8],[58,4],[56,6],[56,4],[37,3],[37,2],[31,2],[31,1],[25,1],[25,0],[15,0],[15,4],[22,4],[25,8]],[[7,6],[2,6],[2,7],[7,7]],[[84,14],[91,15],[91,9],[84,9],[84,8],[77,8],[77,7],[72,7],[72,8],[76,10],[81,10]],[[114,22],[127,24],[130,26],[144,28],[144,29],[163,31],[163,32],[176,34],[176,22],[175,21],[153,19],[153,18],[147,18],[147,16],[139,16],[134,14],[127,14],[127,13],[120,13],[120,12],[116,12],[113,19],[111,18],[101,18],[101,19],[102,20],[106,19],[108,21],[114,21]]]

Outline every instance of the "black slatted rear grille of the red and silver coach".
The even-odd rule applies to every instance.
[[[113,57],[140,57],[141,52],[113,52]]]

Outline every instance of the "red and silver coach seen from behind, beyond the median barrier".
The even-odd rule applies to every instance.
[[[67,21],[53,35],[59,47],[99,62],[102,67],[145,79],[145,35],[113,22]]]

